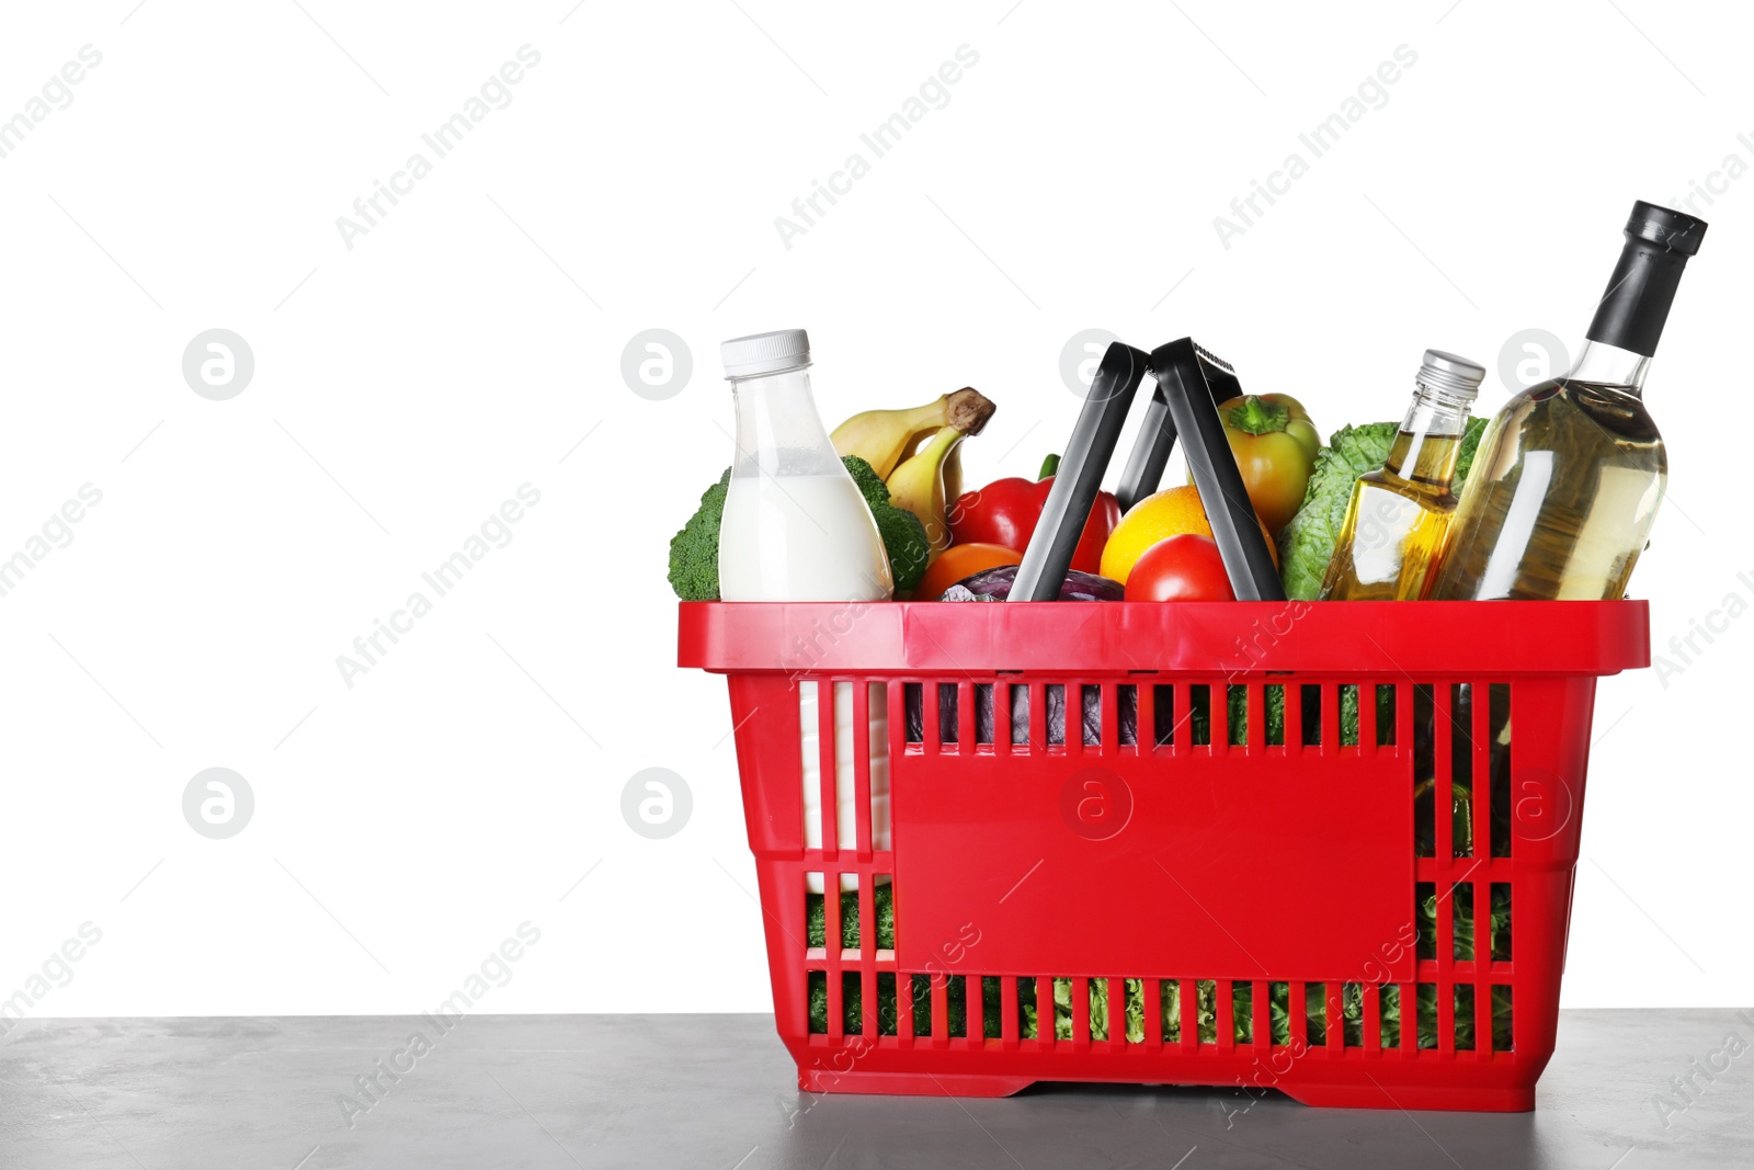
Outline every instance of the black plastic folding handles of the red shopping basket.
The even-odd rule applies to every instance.
[[[1145,374],[1151,374],[1156,388],[1121,475],[1123,510],[1158,489],[1177,435],[1186,435],[1187,467],[1237,600],[1286,600],[1217,416],[1217,405],[1240,395],[1242,384],[1228,363],[1200,349],[1189,337],[1159,346],[1149,358],[1123,342],[1109,346],[1072,428],[1047,503],[1042,505],[1035,537],[1023,554],[1010,600],[1051,602],[1059,596],[1059,584],[1072,567],[1072,554],[1089,523],[1102,477]]]

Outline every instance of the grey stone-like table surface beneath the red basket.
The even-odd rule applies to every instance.
[[[1531,1114],[1072,1084],[814,1096],[796,1091],[770,1016],[467,1017],[367,1109],[354,1079],[410,1031],[437,1035],[424,1019],[0,1023],[4,1170],[1754,1166],[1754,1054],[1724,1051],[1754,1028],[1731,1009],[1563,1012]],[[1694,1061],[1728,1068],[1696,1075],[1665,1117],[1658,1095],[1682,1103],[1670,1079]]]

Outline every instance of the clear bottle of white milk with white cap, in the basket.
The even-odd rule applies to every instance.
[[[779,330],[719,346],[737,400],[737,453],[719,528],[726,602],[888,602],[889,558],[865,496],[810,396],[810,337]],[[798,682],[805,847],[823,849],[821,710],[833,707],[835,817],[828,847],[856,849],[854,682]],[[872,847],[889,849],[889,703],[870,684]],[[821,875],[809,881],[823,893]],[[844,875],[840,889],[854,889]]]

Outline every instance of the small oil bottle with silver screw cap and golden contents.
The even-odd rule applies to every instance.
[[[1424,593],[1456,509],[1449,481],[1484,377],[1479,363],[1426,349],[1389,458],[1352,484],[1321,596],[1415,602]]]

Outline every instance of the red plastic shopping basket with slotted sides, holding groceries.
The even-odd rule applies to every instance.
[[[1596,677],[1649,665],[1647,624],[1643,602],[684,603],[679,661],[730,682],[800,1088],[1524,1110]]]

